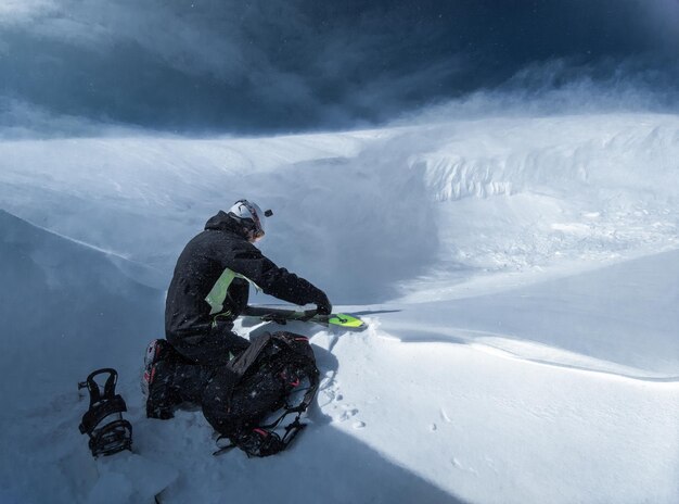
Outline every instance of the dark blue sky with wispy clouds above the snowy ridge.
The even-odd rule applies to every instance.
[[[0,128],[336,130],[584,86],[677,111],[678,53],[678,0],[3,0]]]

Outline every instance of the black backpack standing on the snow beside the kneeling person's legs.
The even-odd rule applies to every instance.
[[[319,386],[319,371],[308,338],[292,332],[266,332],[219,369],[203,392],[203,414],[230,444],[219,455],[238,446],[247,456],[279,453],[306,427],[299,418],[309,407]],[[290,404],[304,392],[302,401]],[[277,419],[265,423],[274,413]],[[296,413],[281,436],[277,428]],[[281,432],[282,430],[279,429]]]

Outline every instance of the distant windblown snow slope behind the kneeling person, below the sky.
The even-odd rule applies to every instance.
[[[677,118],[644,114],[268,139],[4,141],[1,201],[166,274],[207,216],[245,191],[277,212],[264,249],[335,301],[434,287],[432,299],[472,269],[495,285],[497,273],[541,276],[676,248],[678,151]]]

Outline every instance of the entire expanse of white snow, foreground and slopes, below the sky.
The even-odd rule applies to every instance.
[[[0,502],[678,502],[677,160],[662,114],[0,141]],[[287,326],[323,380],[266,459],[139,390],[177,255],[242,197],[369,323]],[[103,366],[134,453],[93,461],[76,383]]]

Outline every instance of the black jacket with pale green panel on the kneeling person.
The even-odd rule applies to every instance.
[[[217,293],[212,298],[222,301],[221,310],[220,303],[215,306],[206,301],[220,277],[222,286],[229,285],[226,297]],[[229,284],[230,278],[233,279]],[[265,257],[246,240],[239,223],[220,211],[187,244],[177,261],[165,306],[168,340],[205,335],[216,319],[233,320],[247,305],[247,280],[265,293],[294,304],[317,303],[324,298],[310,282]]]

